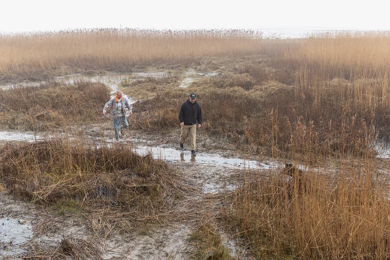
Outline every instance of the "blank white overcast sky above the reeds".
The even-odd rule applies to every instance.
[[[0,32],[74,28],[390,30],[389,0],[2,0]]]

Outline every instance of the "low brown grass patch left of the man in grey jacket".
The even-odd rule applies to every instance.
[[[110,90],[100,83],[0,89],[0,126],[8,129],[50,130],[67,124],[92,122],[110,99]]]

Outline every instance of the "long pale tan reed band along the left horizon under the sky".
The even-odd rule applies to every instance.
[[[68,67],[129,71],[136,64],[191,63],[258,51],[260,33],[244,30],[74,30],[0,35],[0,76],[37,77]]]

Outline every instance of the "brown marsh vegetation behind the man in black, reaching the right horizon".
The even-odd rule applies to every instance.
[[[388,41],[387,34],[340,34],[270,42],[259,56],[216,61],[225,73],[137,104],[137,127],[174,127],[181,102],[195,92],[203,130],[244,151],[374,153],[376,142],[390,140]]]

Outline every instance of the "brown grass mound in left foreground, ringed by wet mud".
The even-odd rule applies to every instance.
[[[60,214],[82,214],[91,230],[105,235],[154,221],[186,189],[167,164],[138,156],[131,146],[91,148],[67,139],[9,143],[0,158],[0,180],[9,194]]]

